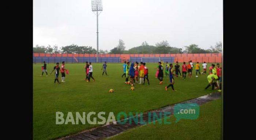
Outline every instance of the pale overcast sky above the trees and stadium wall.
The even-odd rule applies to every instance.
[[[207,49],[222,41],[222,0],[102,0],[99,49],[126,49],[167,40],[172,47]],[[97,48],[91,0],[33,0],[33,46]]]

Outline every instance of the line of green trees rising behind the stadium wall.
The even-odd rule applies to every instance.
[[[210,46],[210,49],[202,49],[199,48],[196,44],[191,44],[188,46],[184,46],[184,50],[182,48],[171,47],[167,40],[163,40],[155,45],[149,45],[147,41],[143,41],[140,46],[133,47],[131,49],[125,50],[125,43],[123,40],[119,39],[118,45],[111,49],[110,51],[102,49],[99,50],[99,54],[153,54],[153,53],[219,53],[222,52],[222,42],[217,42],[214,46]],[[95,54],[97,50],[91,46],[78,46],[75,44],[71,44],[65,47],[61,47],[61,50],[58,49],[57,45],[51,47],[48,45],[39,46],[36,45],[33,47],[34,53],[90,53]]]

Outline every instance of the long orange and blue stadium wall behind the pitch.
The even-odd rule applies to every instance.
[[[96,54],[50,54],[50,53],[33,53],[33,62],[42,63],[57,63],[65,61],[66,63],[85,63],[86,61],[95,63]],[[168,62],[207,62],[207,63],[221,63],[222,53],[183,53],[183,54],[100,54],[98,62],[104,61],[108,63],[120,63],[124,61],[141,61],[142,57],[160,57],[163,61]],[[157,63],[159,58],[143,58],[147,63]]]

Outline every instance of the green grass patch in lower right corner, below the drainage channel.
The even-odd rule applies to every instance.
[[[148,124],[137,127],[108,140],[220,140],[221,139],[221,99],[200,106],[196,120],[180,120],[170,117],[168,125]]]

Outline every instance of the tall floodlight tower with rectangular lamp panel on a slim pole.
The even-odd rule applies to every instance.
[[[98,11],[102,11],[103,7],[102,7],[102,0],[91,0],[91,8],[92,11],[95,12],[96,11],[96,15],[97,15],[97,63],[98,63],[98,53],[99,53],[99,32],[98,32],[98,16],[101,13],[98,13]]]

